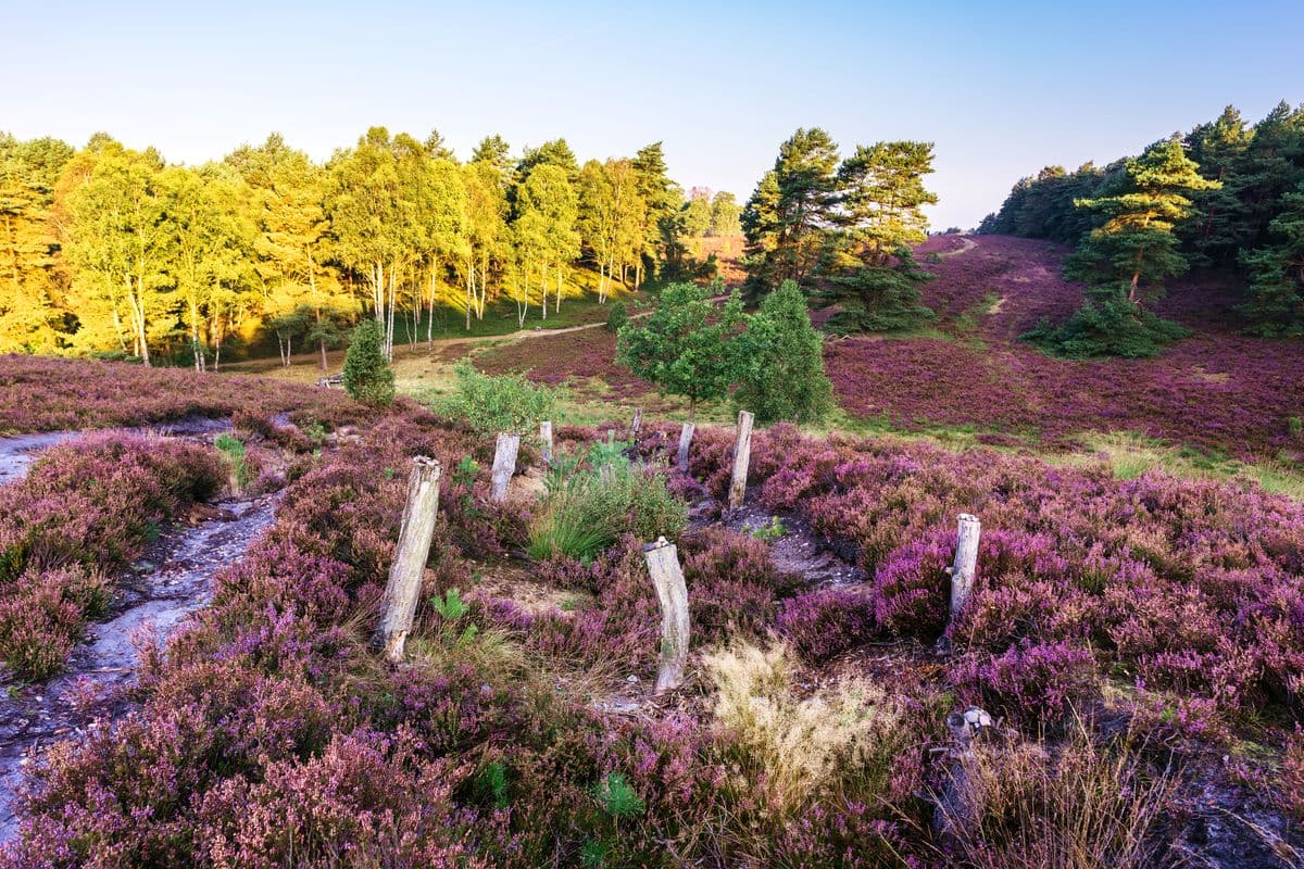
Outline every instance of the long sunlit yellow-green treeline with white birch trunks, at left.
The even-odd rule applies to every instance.
[[[660,142],[579,164],[565,139],[512,156],[498,135],[459,162],[372,128],[325,164],[280,135],[172,165],[106,134],[76,150],[0,134],[0,352],[216,365],[274,332],[288,362],[361,317],[393,356],[396,323],[433,335],[494,305],[558,311],[576,270],[605,301],[649,274],[700,271],[686,240],[738,232],[728,193],[685,195]],[[708,266],[709,267],[709,266]]]

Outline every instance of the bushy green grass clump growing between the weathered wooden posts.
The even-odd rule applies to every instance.
[[[687,521],[687,508],[668,490],[664,472],[595,444],[583,459],[554,461],[544,508],[529,528],[529,554],[588,560],[623,534],[644,541],[674,537]]]

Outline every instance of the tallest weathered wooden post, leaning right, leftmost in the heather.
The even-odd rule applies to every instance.
[[[434,519],[439,509],[439,463],[434,459],[417,456],[412,460],[399,545],[381,601],[381,624],[372,636],[372,646],[382,650],[393,663],[403,661],[403,646],[421,595],[421,572],[430,556],[430,538],[434,537]]]

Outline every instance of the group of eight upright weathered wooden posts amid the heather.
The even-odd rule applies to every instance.
[[[643,412],[636,410],[630,426],[631,439],[638,436],[643,422]],[[734,434],[733,476],[729,483],[729,507],[742,507],[747,489],[747,464],[751,456],[752,414],[746,410],[738,414],[738,427]],[[685,422],[679,433],[678,464],[687,470],[689,446],[692,443],[694,423]],[[542,457],[545,463],[553,459],[553,423],[540,425]],[[507,486],[516,470],[516,452],[520,448],[520,435],[502,433],[494,451],[490,473],[490,498],[502,502],[507,496]],[[385,597],[381,601],[381,621],[373,636],[373,645],[394,663],[403,661],[404,644],[412,631],[417,598],[421,593],[421,575],[430,555],[430,542],[434,537],[436,513],[439,508],[439,476],[442,468],[434,459],[417,456],[412,460],[412,473],[408,477],[407,506],[403,511],[403,524],[399,529],[399,542],[394,562],[390,565]],[[960,528],[956,539],[956,555],[947,573],[951,576],[951,618],[964,608],[973,588],[978,564],[978,538],[982,524],[975,516],[960,515]],[[643,547],[648,575],[656,588],[661,605],[661,661],[656,680],[656,692],[662,693],[678,688],[689,662],[689,589],[683,582],[683,568],[674,543],[664,537]]]

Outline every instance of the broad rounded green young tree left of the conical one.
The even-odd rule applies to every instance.
[[[647,318],[621,327],[615,361],[662,393],[682,395],[696,413],[699,403],[724,399],[738,379],[742,321],[737,292],[716,309],[709,288],[670,284]]]

